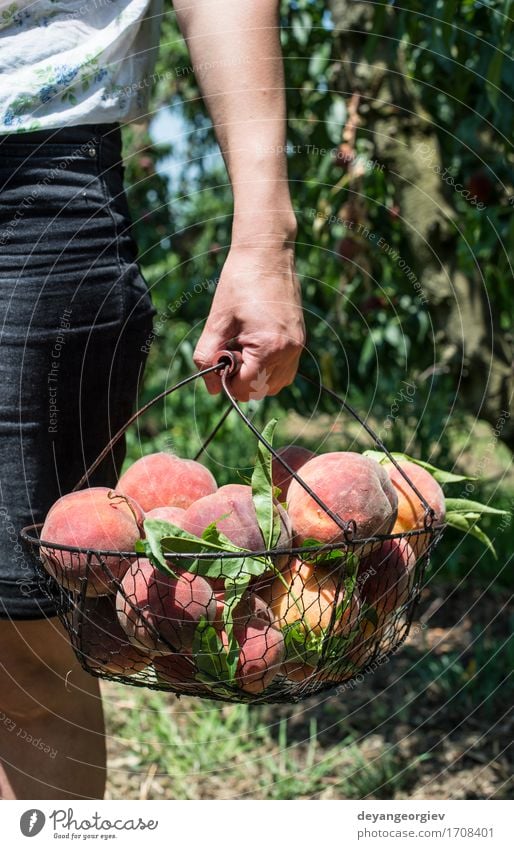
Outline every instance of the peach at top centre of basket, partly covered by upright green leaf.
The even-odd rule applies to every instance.
[[[286,548],[291,542],[291,526],[285,510],[280,505],[277,505],[277,510],[281,534],[276,547]],[[248,551],[265,548],[250,486],[227,484],[212,495],[195,501],[186,510],[182,527],[191,534],[201,536],[213,522],[234,545]]]

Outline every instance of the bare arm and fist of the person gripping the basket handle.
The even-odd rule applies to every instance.
[[[287,183],[278,0],[175,0],[234,194],[230,252],[195,362],[242,352],[240,400],[290,383],[304,343],[294,270],[296,220]],[[218,392],[217,377],[207,379]]]

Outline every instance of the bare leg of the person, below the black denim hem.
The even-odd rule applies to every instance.
[[[101,799],[97,679],[56,619],[0,621],[0,798]]]

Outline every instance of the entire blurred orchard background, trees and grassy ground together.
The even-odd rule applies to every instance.
[[[514,510],[513,0],[283,0],[289,174],[308,323],[302,371],[347,398],[395,450],[479,480],[455,496],[498,560],[448,530],[417,620],[355,690],[248,708],[109,686],[115,798],[509,798]],[[140,401],[193,370],[230,244],[232,199],[196,68],[169,6],[152,113],[125,133],[127,190],[157,309]],[[237,60],[228,56],[227,61]],[[131,429],[133,460],[193,456],[224,404],[185,388]],[[370,447],[298,380],[250,405],[277,443]],[[204,457],[248,474],[230,416]],[[129,710],[127,710],[129,708]]]

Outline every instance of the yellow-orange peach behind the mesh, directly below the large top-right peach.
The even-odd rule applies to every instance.
[[[356,626],[360,597],[355,589],[346,604],[342,582],[338,590],[339,578],[336,570],[296,560],[281,577],[262,588],[261,596],[271,607],[280,628],[300,622],[306,637],[322,636],[330,627],[334,606],[341,605],[344,609],[335,619],[331,634],[345,637]]]

